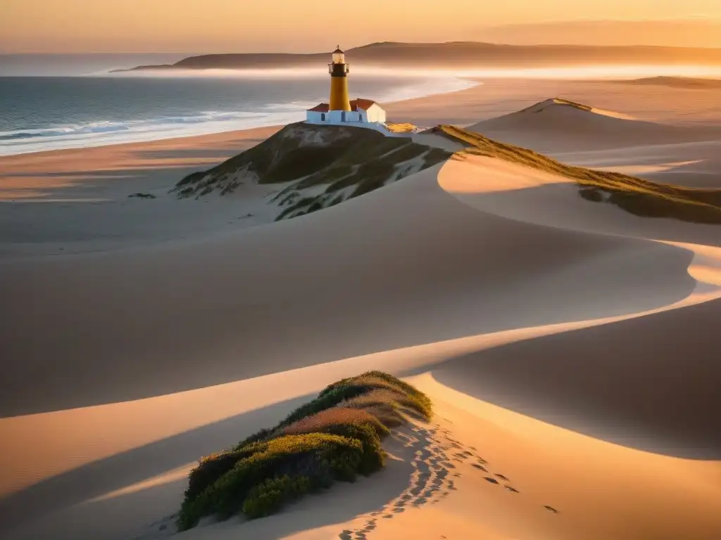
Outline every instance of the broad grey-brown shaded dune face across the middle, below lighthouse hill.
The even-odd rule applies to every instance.
[[[691,253],[477,212],[427,171],[227,238],[1,265],[0,417],[622,315],[694,288]]]

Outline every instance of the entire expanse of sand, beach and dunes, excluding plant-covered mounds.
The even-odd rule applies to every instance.
[[[386,110],[721,189],[720,96],[504,79]],[[718,225],[483,156],[279,222],[273,185],[169,193],[281,127],[0,157],[0,538],[161,538],[200,456],[370,369],[435,406],[386,469],[178,538],[721,537]],[[456,456],[408,503],[449,440],[514,491]]]

